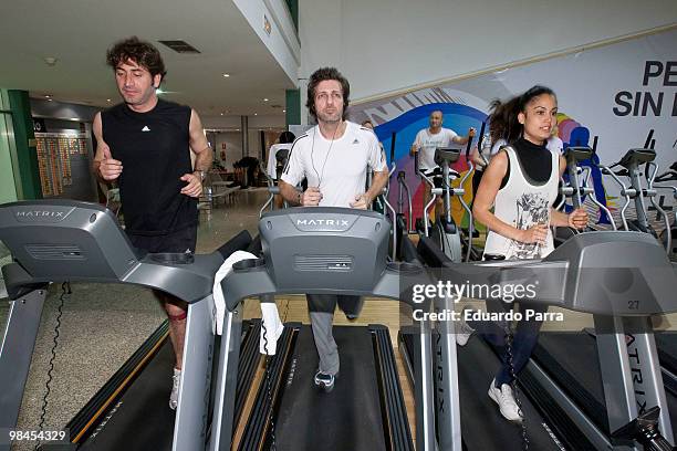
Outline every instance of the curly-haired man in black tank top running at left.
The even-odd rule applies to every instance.
[[[137,38],[121,41],[108,50],[107,63],[124,102],[94,118],[94,172],[104,181],[117,180],[133,245],[147,252],[194,252],[197,198],[212,160],[200,118],[188,106],[157,97],[166,71],[152,44]],[[169,407],[176,409],[187,307],[167,294],[155,295],[169,317],[176,355]]]

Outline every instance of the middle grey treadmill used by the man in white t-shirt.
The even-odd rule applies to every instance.
[[[262,216],[263,258],[237,263],[221,283],[227,307],[222,342],[229,346],[222,346],[219,356],[212,449],[233,441],[232,375],[239,364],[242,300],[292,293],[400,300],[425,274],[415,264],[386,263],[389,229],[383,214],[368,210],[293,208]],[[421,323],[418,331],[423,345],[415,361],[421,368],[415,395],[416,442],[417,449],[433,450],[429,324]],[[320,392],[312,380],[317,355],[311,329],[287,325],[238,449],[268,449],[273,441],[281,450],[414,449],[387,328],[334,327],[334,337],[341,373],[331,392]],[[451,381],[447,384],[447,392],[455,392]]]

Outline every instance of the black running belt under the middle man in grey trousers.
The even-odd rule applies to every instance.
[[[366,327],[334,327],[341,373],[326,394],[315,387],[317,352],[302,327],[275,418],[279,450],[385,450],[372,334]]]

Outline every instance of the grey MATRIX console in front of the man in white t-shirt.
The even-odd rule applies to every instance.
[[[270,211],[259,222],[267,270],[281,291],[372,291],[385,271],[389,230],[383,214],[334,207]]]

